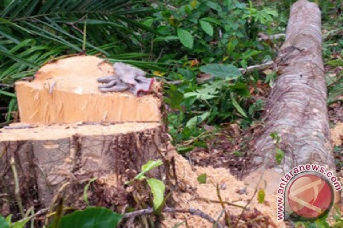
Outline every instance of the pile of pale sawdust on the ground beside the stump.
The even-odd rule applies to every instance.
[[[173,153],[175,156],[178,181],[185,185],[187,189],[187,191],[184,192],[178,191],[173,193],[177,208],[199,209],[212,218],[217,219],[222,212],[221,204],[210,202],[211,200],[218,201],[216,193],[217,184],[220,186],[220,195],[224,202],[235,203],[244,207],[248,200],[251,199],[255,189],[249,188],[244,182],[237,180],[234,176],[229,174],[228,170],[224,168],[191,166],[182,156],[178,155],[176,152]],[[207,175],[205,184],[199,184],[197,180],[197,177],[201,174]],[[225,205],[225,207],[230,216],[239,216],[242,211],[242,209],[237,206]],[[272,225],[269,225],[268,227],[286,227],[283,222],[277,221],[276,219],[275,195],[266,194],[265,202],[263,204],[259,204],[257,202],[257,196],[255,196],[248,206],[246,214],[254,212],[256,214],[256,211],[263,216],[269,216],[268,223]],[[223,224],[223,217],[224,215],[222,215],[219,220],[221,224]],[[213,224],[198,216],[180,213],[176,213],[175,215],[165,214],[163,224],[166,227],[174,227],[176,224],[182,223],[185,220],[187,220],[188,227],[204,228],[213,226]],[[186,224],[183,223],[180,227],[186,227]],[[246,227],[246,225],[241,227]]]

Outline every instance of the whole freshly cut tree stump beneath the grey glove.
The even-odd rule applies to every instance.
[[[16,83],[21,122],[0,129],[1,214],[48,207],[62,191],[66,205],[85,206],[84,186],[93,177],[97,185],[111,182],[92,193],[93,205],[125,204],[123,183],[161,159],[161,85],[142,97],[98,92],[96,78],[111,69],[100,58],[76,56]],[[159,171],[151,175],[161,178]]]

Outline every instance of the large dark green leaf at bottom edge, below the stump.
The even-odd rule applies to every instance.
[[[105,207],[89,207],[63,216],[59,228],[108,228],[117,227],[121,214]]]

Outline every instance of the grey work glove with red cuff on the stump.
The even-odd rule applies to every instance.
[[[145,72],[125,63],[117,62],[113,65],[116,76],[98,78],[100,92],[121,92],[128,90],[135,96],[141,96],[151,89],[154,78],[145,78]]]

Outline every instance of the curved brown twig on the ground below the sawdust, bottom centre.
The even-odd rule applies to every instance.
[[[176,209],[176,208],[172,208],[172,207],[165,207],[162,212],[165,213],[190,213],[191,215],[196,215],[199,216],[203,219],[208,220],[209,222],[211,222],[212,224],[216,223],[216,220],[214,218],[212,218],[211,216],[209,216],[208,214],[205,214],[204,212],[198,210],[198,209]],[[134,211],[134,212],[129,212],[123,215],[124,218],[132,218],[132,217],[137,217],[137,216],[142,216],[142,215],[150,215],[154,213],[154,210],[149,207],[147,209],[143,209],[143,210],[138,210],[138,211]],[[223,228],[222,225],[217,224],[218,228]]]

